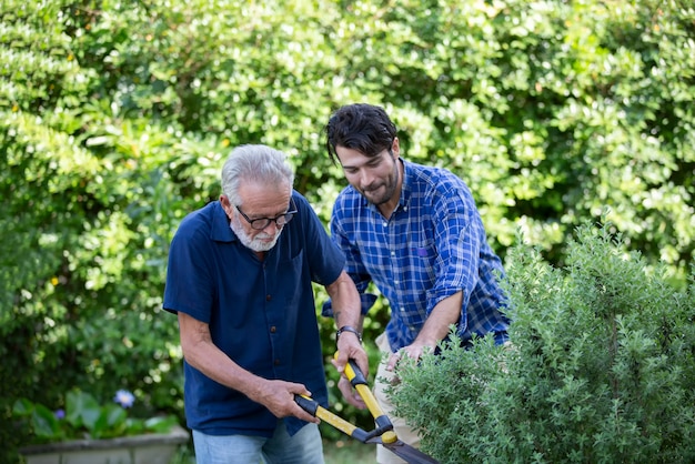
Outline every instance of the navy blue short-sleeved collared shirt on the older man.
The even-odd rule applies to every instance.
[[[345,259],[304,196],[298,213],[260,261],[230,229],[219,201],[183,219],[171,242],[164,310],[210,326],[213,343],[243,369],[306,385],[328,406],[311,282],[333,283]],[[244,394],[184,361],[187,424],[210,435],[272,436],[276,417]],[[286,420],[290,434],[305,422]]]

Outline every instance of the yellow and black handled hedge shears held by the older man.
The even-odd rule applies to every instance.
[[[338,356],[338,353],[335,354]],[[393,432],[393,424],[391,423],[391,420],[386,416],[386,414],[383,413],[383,411],[376,403],[376,399],[374,397],[374,395],[370,391],[370,387],[366,384],[366,379],[353,360],[350,360],[348,362],[344,372],[350,383],[352,383],[352,386],[354,386],[360,396],[362,396],[362,400],[370,410],[370,413],[372,413],[372,416],[374,416],[375,428],[373,431],[366,432],[351,424],[344,418],[322,407],[316,401],[312,400],[309,396],[294,395],[294,401],[309,414],[328,422],[346,435],[352,436],[353,438],[359,440],[362,443],[381,444],[386,450],[390,450],[392,453],[396,454],[399,457],[407,463],[439,464],[439,461],[399,440],[395,432]]]

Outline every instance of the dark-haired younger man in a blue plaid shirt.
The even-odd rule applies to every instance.
[[[417,360],[435,350],[452,324],[464,343],[474,334],[506,341],[505,296],[497,282],[502,263],[463,180],[404,160],[395,124],[382,108],[342,107],[325,130],[329,155],[350,183],[335,201],[331,235],[346,256],[363,312],[371,306],[364,294],[370,282],[391,307],[386,330],[376,339],[389,356],[376,372],[374,395],[399,437],[417,446],[417,435],[393,416],[384,389],[401,356]],[[331,302],[324,305],[330,312]],[[350,383],[342,379],[339,386],[351,399]],[[364,406],[356,396],[350,401]],[[380,446],[377,462],[403,461]]]

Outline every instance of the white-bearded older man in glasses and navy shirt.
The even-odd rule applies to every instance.
[[[319,420],[294,402],[328,406],[312,282],[339,327],[359,324],[360,297],[293,180],[280,151],[236,148],[219,201],[183,219],[171,243],[163,307],[179,317],[198,464],[323,463]],[[338,344],[339,370],[349,357],[367,369],[357,337]]]

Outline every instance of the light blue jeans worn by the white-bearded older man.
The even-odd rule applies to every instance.
[[[279,420],[272,438],[193,431],[193,445],[197,464],[324,464],[316,424],[306,424],[290,436]]]

